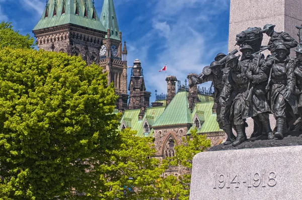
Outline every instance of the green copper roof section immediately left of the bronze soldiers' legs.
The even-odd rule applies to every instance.
[[[202,118],[202,116],[200,115],[201,112],[203,112],[204,117],[204,122],[202,123],[201,127],[197,130],[197,133],[211,133],[222,131],[216,121],[216,113],[212,113],[213,105],[214,102],[201,102],[195,104],[192,117],[194,117],[197,113],[197,116]],[[192,119],[192,121],[193,120],[194,119]],[[202,121],[202,119],[200,120]],[[193,128],[193,126],[191,128]],[[189,132],[190,131],[188,131],[188,133]]]

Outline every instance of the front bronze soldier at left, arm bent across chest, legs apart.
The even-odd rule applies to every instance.
[[[271,136],[273,133],[267,120],[269,105],[264,95],[259,95],[256,90],[254,91],[255,85],[267,80],[267,75],[253,62],[239,63],[238,56],[235,55],[229,56],[226,66],[231,69],[221,91],[219,103],[225,107],[227,106],[226,99],[230,95],[235,96],[232,99],[230,119],[236,128],[237,138],[232,145],[238,146],[245,141],[245,121],[247,118],[257,115],[266,132]]]

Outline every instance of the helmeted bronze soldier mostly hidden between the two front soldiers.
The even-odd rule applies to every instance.
[[[242,52],[242,59],[240,60],[239,64],[242,65],[242,68],[247,70],[250,65],[252,63],[256,64],[258,67],[261,67],[262,64],[265,62],[264,60],[264,56],[263,54],[259,53],[257,55],[253,54],[254,53],[254,49],[250,46],[250,45],[244,45],[240,51]],[[261,68],[262,69],[262,68]],[[263,70],[263,69],[262,69]],[[264,70],[263,70],[264,71]],[[266,75],[268,76],[269,70],[267,70],[268,72],[264,71],[266,73]],[[260,82],[258,84],[254,85],[253,88],[253,92],[257,93],[257,96],[260,97],[262,99],[265,99],[265,87],[267,85],[266,81]],[[265,115],[263,114],[263,117],[265,117],[265,121],[269,121],[269,105],[268,104],[264,104],[261,105],[264,106],[265,108],[262,108],[261,111],[263,111],[263,113],[266,113]],[[258,115],[252,117],[254,120],[254,131],[251,135],[251,137],[257,137],[262,135],[262,132],[264,131],[265,133],[271,133],[271,129],[270,126],[269,127],[263,127],[263,124],[259,118]],[[268,131],[268,132],[266,132]]]

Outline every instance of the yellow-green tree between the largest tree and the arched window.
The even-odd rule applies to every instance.
[[[110,161],[98,167],[100,199],[150,199],[160,196],[159,181],[165,164],[155,156],[152,138],[135,137],[130,129],[120,133],[120,148],[108,151]]]

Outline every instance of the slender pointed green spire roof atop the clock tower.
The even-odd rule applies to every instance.
[[[101,23],[103,24],[106,30],[110,29],[111,39],[115,39],[119,41],[121,40],[119,38],[119,29],[118,29],[113,0],[104,0],[103,9],[101,13]]]

